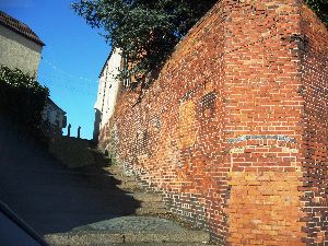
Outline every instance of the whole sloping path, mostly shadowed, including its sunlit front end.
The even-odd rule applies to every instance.
[[[207,233],[136,216],[141,202],[99,166],[67,168],[0,126],[0,200],[51,245],[203,245]],[[186,239],[188,238],[188,239]]]

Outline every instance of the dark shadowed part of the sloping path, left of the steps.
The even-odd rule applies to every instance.
[[[1,121],[0,200],[40,235],[131,214],[139,207],[101,168],[68,169]]]

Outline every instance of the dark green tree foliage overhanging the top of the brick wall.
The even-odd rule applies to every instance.
[[[216,0],[78,0],[75,12],[120,47],[133,66],[122,71],[141,81],[156,73],[174,46]]]

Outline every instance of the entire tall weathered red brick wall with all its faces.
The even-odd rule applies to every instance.
[[[302,1],[221,0],[101,133],[223,245],[325,245],[328,34]]]

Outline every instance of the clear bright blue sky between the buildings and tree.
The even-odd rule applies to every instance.
[[[70,9],[74,0],[0,0],[0,10],[27,24],[46,44],[38,81],[67,112],[72,136],[93,133],[98,75],[110,50],[98,30]],[[66,134],[67,129],[63,130]]]

